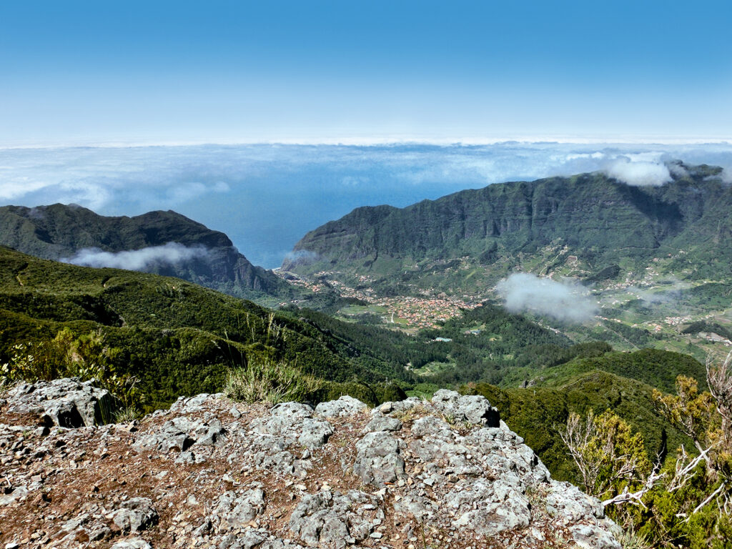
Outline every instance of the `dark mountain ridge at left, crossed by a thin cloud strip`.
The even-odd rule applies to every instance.
[[[173,276],[241,297],[253,292],[289,296],[289,285],[254,266],[223,233],[181,214],[148,212],[135,217],[105,217],[81,206],[4,206],[0,244],[44,259],[73,258],[81,250],[119,253],[175,242],[199,250],[174,262],[151,261],[145,272]]]

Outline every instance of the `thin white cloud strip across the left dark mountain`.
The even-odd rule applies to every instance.
[[[168,242],[163,246],[151,246],[141,250],[125,250],[123,252],[105,252],[99,248],[84,248],[70,258],[63,258],[64,263],[88,267],[113,267],[130,271],[147,271],[153,266],[175,265],[182,261],[200,258],[206,255],[203,246],[186,247],[178,242]]]

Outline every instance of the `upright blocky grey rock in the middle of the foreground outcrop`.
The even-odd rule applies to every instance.
[[[404,477],[403,441],[389,433],[367,433],[356,442],[354,474],[365,484],[382,485]]]

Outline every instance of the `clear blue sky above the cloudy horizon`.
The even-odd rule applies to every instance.
[[[730,1],[2,1],[0,146],[732,138]]]

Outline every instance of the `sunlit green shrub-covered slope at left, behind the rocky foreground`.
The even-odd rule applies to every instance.
[[[170,277],[61,264],[0,247],[0,364],[12,346],[50,340],[70,327],[101,330],[122,350],[125,373],[141,378],[152,403],[215,392],[231,367],[275,353],[328,381],[376,383],[413,376],[356,338],[294,313]],[[402,337],[407,337],[403,335]]]

